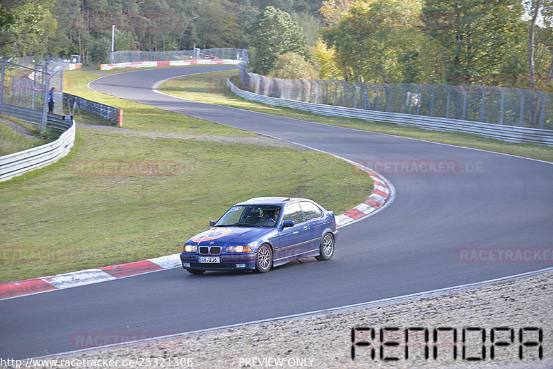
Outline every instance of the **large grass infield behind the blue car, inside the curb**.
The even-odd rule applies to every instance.
[[[66,83],[85,95],[77,91],[90,73],[77,72],[67,73]],[[127,108],[125,119],[136,130],[236,136],[236,142],[256,137],[102,94],[87,96]],[[144,117],[156,124],[141,124]],[[122,133],[77,129],[68,156],[0,183],[0,283],[178,253],[209,220],[247,198],[301,196],[339,213],[365,200],[373,186],[366,173],[324,153]],[[155,175],[110,169],[133,163],[149,165]]]

